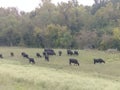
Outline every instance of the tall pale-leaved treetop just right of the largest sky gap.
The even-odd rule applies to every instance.
[[[34,16],[32,22],[41,29],[51,23],[58,23],[56,6],[51,3],[51,0],[42,0],[42,5],[31,15]]]

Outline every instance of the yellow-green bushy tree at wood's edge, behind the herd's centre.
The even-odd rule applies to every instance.
[[[50,41],[50,45],[54,45],[55,47],[68,47],[72,41],[72,37],[67,30],[67,27],[60,25],[48,25],[47,37],[49,39],[48,41]]]

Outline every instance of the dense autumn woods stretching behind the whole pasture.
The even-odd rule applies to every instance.
[[[77,0],[58,5],[42,0],[31,12],[0,8],[0,46],[120,50],[120,1]]]

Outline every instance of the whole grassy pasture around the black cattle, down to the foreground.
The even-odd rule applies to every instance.
[[[50,56],[50,62],[37,58],[43,49],[0,47],[0,90],[120,90],[120,53],[79,50],[79,56]],[[15,56],[11,57],[10,52]],[[21,57],[26,52],[35,65]],[[80,66],[69,66],[69,58],[78,59]],[[93,58],[103,58],[105,64],[93,64]]]

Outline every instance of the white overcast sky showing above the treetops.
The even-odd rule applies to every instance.
[[[41,0],[0,0],[0,7],[16,7],[19,11],[30,12],[39,6]],[[51,0],[52,3],[68,2],[69,0]],[[79,4],[92,5],[94,0],[78,0]]]

